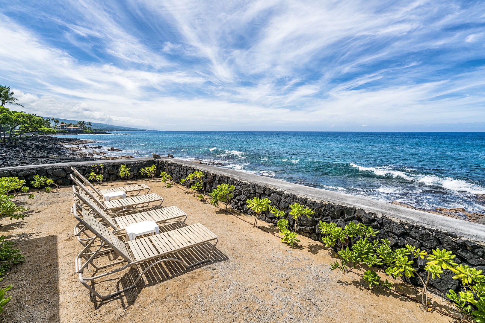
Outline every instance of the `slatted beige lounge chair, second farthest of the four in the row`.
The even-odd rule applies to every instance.
[[[109,201],[100,201],[91,193],[84,185],[81,184],[81,182],[74,177],[71,174],[71,179],[78,185],[79,189],[84,191],[90,198],[91,200],[94,200],[99,207],[101,207],[103,210],[106,212],[116,212],[116,210],[119,209],[135,209],[139,207],[145,207],[148,206],[151,202],[159,202],[160,205],[163,203],[163,198],[156,194],[156,193],[150,193],[146,195],[137,195],[137,196],[132,196],[130,198],[126,199],[119,199],[119,200],[109,200]],[[73,190],[75,190],[75,187],[73,185]],[[145,205],[146,204],[146,205]]]

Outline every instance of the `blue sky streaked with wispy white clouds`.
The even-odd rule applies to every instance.
[[[0,4],[12,109],[158,130],[485,131],[485,1]]]

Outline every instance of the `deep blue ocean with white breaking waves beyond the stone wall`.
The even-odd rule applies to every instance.
[[[288,182],[485,213],[485,133],[125,132],[76,135],[135,157],[173,154]],[[137,153],[138,152],[138,153]]]

